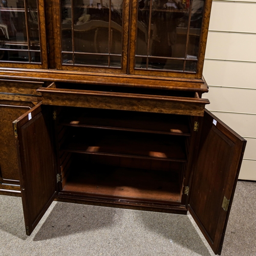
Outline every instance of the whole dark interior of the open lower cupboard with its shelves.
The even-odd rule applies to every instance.
[[[181,203],[188,116],[72,107],[57,113],[62,193]]]

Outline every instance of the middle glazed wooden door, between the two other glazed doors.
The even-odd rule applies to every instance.
[[[126,73],[129,0],[53,1],[59,70]]]

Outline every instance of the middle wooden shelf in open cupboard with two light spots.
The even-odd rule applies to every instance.
[[[186,162],[184,138],[73,127],[61,150],[109,156]]]

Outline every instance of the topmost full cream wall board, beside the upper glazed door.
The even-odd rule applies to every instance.
[[[209,30],[256,33],[255,13],[253,3],[213,2]]]

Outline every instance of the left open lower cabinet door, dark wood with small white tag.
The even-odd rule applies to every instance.
[[[41,103],[13,122],[28,235],[57,195],[50,115]]]

